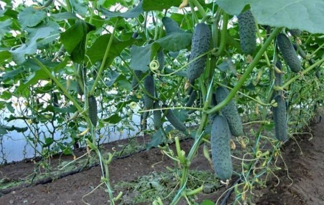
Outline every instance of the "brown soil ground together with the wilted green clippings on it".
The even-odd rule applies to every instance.
[[[275,172],[278,178],[273,176],[268,179],[266,188],[257,187],[253,198],[256,204],[324,204],[324,122],[314,123],[311,127],[313,137],[309,134],[296,136],[296,141],[291,139],[284,146],[281,153],[288,170],[283,161],[277,162],[276,166],[281,168]],[[192,143],[192,139],[183,140],[181,148],[188,153]],[[175,149],[174,145],[170,145],[170,148]],[[71,157],[66,158],[66,161],[71,160]],[[159,148],[113,160],[109,165],[109,174],[114,195],[123,191],[118,204],[150,204],[156,196],[166,198],[175,194],[177,180],[168,167],[173,168],[174,162],[163,155]],[[23,162],[2,166],[0,182],[23,178],[33,169],[33,163]],[[204,199],[215,202],[228,189],[215,180],[202,146],[190,169],[188,186],[197,188],[204,185],[203,192],[196,196],[197,202]],[[109,204],[104,186],[87,195],[101,183],[100,177],[100,166],[92,167],[50,183],[12,191],[1,196],[0,204],[85,204],[83,200],[89,204]],[[234,197],[232,194],[228,201],[233,201]],[[187,203],[181,200],[179,204]]]

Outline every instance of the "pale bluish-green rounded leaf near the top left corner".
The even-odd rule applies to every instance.
[[[25,27],[34,27],[41,23],[45,19],[46,13],[42,10],[35,10],[31,7],[27,7],[21,11],[18,15],[20,25]]]

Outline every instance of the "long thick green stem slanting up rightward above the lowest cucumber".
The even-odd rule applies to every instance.
[[[236,92],[243,85],[243,83],[248,79],[248,77],[250,76],[250,73],[253,71],[254,67],[259,63],[263,53],[265,52],[267,47],[270,45],[270,43],[274,39],[274,37],[280,32],[280,30],[281,30],[281,28],[275,28],[272,31],[269,38],[265,41],[263,46],[260,48],[258,54],[253,59],[253,61],[251,62],[251,64],[247,68],[246,72],[242,75],[242,77],[237,82],[237,84],[233,87],[231,92],[227,95],[227,97],[220,104],[218,104],[217,106],[215,106],[214,108],[212,108],[210,110],[207,110],[206,111],[207,114],[215,113],[215,112],[219,111],[220,109],[224,108],[228,104],[228,102],[235,96]]]

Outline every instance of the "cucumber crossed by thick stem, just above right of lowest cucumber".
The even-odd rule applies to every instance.
[[[216,101],[220,103],[223,101],[227,95],[228,90],[224,87],[218,87],[216,89]],[[229,129],[234,136],[243,135],[243,126],[241,117],[238,115],[236,105],[233,100],[230,100],[229,103],[221,109],[222,114],[226,117],[228,121]]]

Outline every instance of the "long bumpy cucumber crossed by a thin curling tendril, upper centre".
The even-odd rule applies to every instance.
[[[211,41],[211,30],[204,23],[197,24],[191,39],[191,52],[189,61],[208,52]],[[190,83],[193,83],[203,72],[206,66],[207,55],[195,60],[188,66],[187,74]]]

